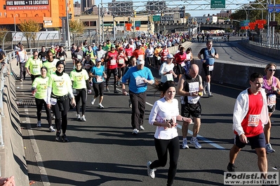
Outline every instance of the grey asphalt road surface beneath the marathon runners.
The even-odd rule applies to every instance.
[[[236,50],[238,43],[228,44],[214,43],[220,59],[239,59],[239,52],[243,50]],[[205,43],[192,43],[194,55],[204,46]],[[227,50],[222,50],[226,47]],[[251,54],[249,52],[249,55]],[[259,58],[248,61],[257,61]],[[69,70],[70,68],[67,68],[67,71]],[[158,77],[156,71],[152,70],[154,76]],[[17,82],[16,87],[17,100],[28,100],[25,101],[28,104],[19,107],[19,112],[29,180],[35,182],[32,185],[166,185],[168,164],[156,171],[154,180],[147,176],[147,161],[156,159],[155,127],[147,121],[152,104],[159,99],[159,94],[155,94],[152,87],[149,86],[147,91],[145,131],[140,131],[137,136],[131,134],[128,96],[121,95],[121,92],[105,92],[104,109],[98,108],[97,103],[91,106],[89,96],[86,108],[87,122],[76,121],[75,111],[69,110],[69,143],[59,143],[55,142],[55,134],[48,132],[46,120],[42,120],[41,128],[36,127],[36,108],[30,91],[31,81],[29,77],[27,79],[23,83]],[[112,80],[110,85],[112,90]],[[118,89],[121,91],[121,87]],[[229,149],[232,147],[234,136],[232,110],[236,96],[243,88],[214,84],[211,89],[213,97],[201,98],[199,142],[202,148],[197,150],[193,145],[189,145],[189,149],[180,149],[174,185],[223,185],[223,173],[227,169]],[[176,99],[179,99],[179,96],[176,96]],[[272,166],[280,167],[279,114],[278,104],[272,115],[274,122],[271,143],[276,152],[267,156],[269,171],[275,171]],[[46,118],[45,114],[43,116]],[[180,129],[178,132],[182,141],[182,132]],[[192,127],[189,128],[189,133],[192,133]],[[258,171],[255,151],[246,146],[239,153],[236,166],[238,171]]]

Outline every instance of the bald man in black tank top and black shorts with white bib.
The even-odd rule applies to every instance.
[[[193,135],[190,143],[195,148],[201,148],[197,141],[197,134],[201,124],[201,105],[199,103],[200,96],[202,96],[202,78],[199,76],[199,66],[192,64],[189,67],[189,73],[183,75],[178,82],[178,94],[181,96],[181,115],[182,117],[189,117],[192,115],[194,121]],[[182,123],[182,148],[189,148],[187,145],[187,131],[189,123]]]

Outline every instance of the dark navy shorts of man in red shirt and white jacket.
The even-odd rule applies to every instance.
[[[247,141],[250,143],[252,149],[265,148],[265,134],[263,132],[257,136],[247,137]],[[239,139],[239,136],[236,135],[234,138],[234,145],[236,145],[238,148],[244,148],[246,143],[242,143]]]

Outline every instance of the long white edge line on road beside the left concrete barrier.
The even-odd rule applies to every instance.
[[[28,115],[28,107],[27,106],[25,106],[25,114]],[[36,139],[34,138],[33,130],[32,130],[31,124],[30,124],[30,118],[25,117],[25,120],[27,122],[27,131],[28,131],[28,134],[29,134],[29,138],[30,138],[30,141],[31,141],[33,151],[35,153],[35,159],[36,159],[36,162],[37,162],[37,166],[39,168],[41,180],[42,180],[44,186],[49,186],[49,185],[51,185],[51,183],[48,180],[48,175],[46,173],[46,169],[45,169],[45,166],[44,166],[44,163],[43,163],[43,159],[42,159],[41,154],[39,152],[39,148],[38,148],[38,145],[36,143]]]

